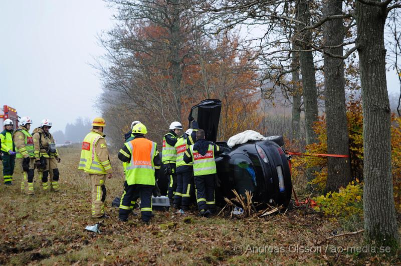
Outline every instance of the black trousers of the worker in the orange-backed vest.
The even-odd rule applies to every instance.
[[[143,221],[149,221],[152,217],[152,190],[154,185],[148,184],[131,184],[124,182],[124,192],[121,196],[120,210],[118,217],[120,219],[128,219],[129,213],[132,211],[132,202],[141,198],[141,218]]]

